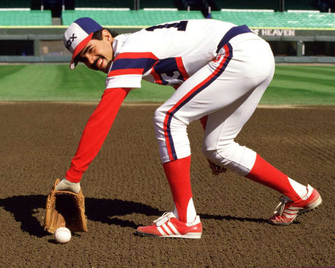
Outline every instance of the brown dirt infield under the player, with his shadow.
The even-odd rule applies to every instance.
[[[0,267],[325,267],[335,265],[334,107],[257,109],[237,141],[302,184],[320,208],[288,227],[267,218],[280,194],[232,172],[211,175],[202,128],[188,128],[191,177],[202,239],[135,235],[172,209],[152,117],[123,106],[82,179],[89,232],[57,244],[41,227],[46,195],[63,177],[94,105],[0,105]]]

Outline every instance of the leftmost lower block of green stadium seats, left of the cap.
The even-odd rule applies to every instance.
[[[45,26],[51,24],[51,10],[0,10],[0,26]]]

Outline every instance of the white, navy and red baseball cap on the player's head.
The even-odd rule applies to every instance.
[[[66,29],[63,37],[65,47],[72,53],[70,69],[77,66],[75,59],[82,49],[89,43],[95,31],[100,31],[103,27],[90,17],[80,17],[71,23]]]

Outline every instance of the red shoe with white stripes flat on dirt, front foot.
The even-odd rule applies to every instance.
[[[165,212],[151,225],[137,228],[136,232],[137,234],[149,237],[200,239],[202,224],[199,216],[195,217],[193,223],[183,223],[170,211]]]

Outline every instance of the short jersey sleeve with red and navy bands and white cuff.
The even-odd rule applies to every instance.
[[[142,75],[158,62],[151,52],[121,52],[107,75],[106,88],[140,88]]]

